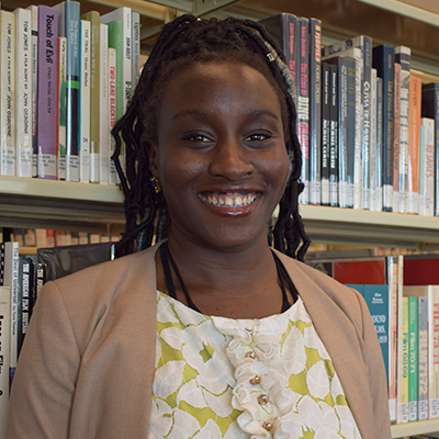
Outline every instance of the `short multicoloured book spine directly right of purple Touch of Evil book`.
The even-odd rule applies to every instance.
[[[66,68],[67,68],[67,40],[58,36],[58,180],[66,180]]]

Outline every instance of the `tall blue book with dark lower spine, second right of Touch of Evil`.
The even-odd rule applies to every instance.
[[[79,16],[78,1],[55,5],[58,36],[67,40],[66,60],[66,180],[79,181]]]

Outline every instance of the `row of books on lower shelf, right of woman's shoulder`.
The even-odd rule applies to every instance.
[[[391,420],[439,418],[439,255],[307,263],[365,299],[387,373]]]

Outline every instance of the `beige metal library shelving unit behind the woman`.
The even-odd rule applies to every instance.
[[[1,3],[3,9],[13,10],[32,2],[3,0]],[[413,68],[439,77],[439,7],[436,3],[435,0],[94,0],[81,1],[81,8],[105,12],[130,7],[139,12],[146,52],[162,24],[180,13],[254,20],[279,12],[317,16],[323,22],[323,44],[365,34],[374,44],[406,45],[412,48]],[[439,248],[437,217],[311,205],[301,206],[300,212],[306,232],[315,241]],[[0,177],[0,226],[109,233],[121,230],[123,224],[123,195],[116,187]],[[392,426],[393,438],[434,431],[439,431],[439,419]]]

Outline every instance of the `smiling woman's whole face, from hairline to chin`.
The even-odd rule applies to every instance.
[[[267,241],[290,161],[279,98],[262,74],[207,63],[175,75],[149,154],[170,236],[218,249]]]

